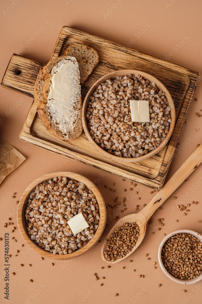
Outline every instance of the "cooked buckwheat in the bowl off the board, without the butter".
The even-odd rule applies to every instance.
[[[89,227],[74,235],[67,224],[82,212]],[[53,254],[68,254],[94,237],[100,221],[94,193],[82,182],[54,177],[31,192],[25,211],[28,235],[39,247]]]

